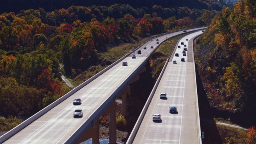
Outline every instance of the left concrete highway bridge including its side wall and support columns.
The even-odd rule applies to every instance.
[[[193,32],[204,28],[187,30]],[[122,96],[122,113],[126,113],[126,93],[129,84],[139,79],[139,74],[145,71],[145,64],[150,54],[158,46],[174,36],[184,32],[173,32],[145,42],[138,49],[142,54],[132,52],[114,62],[80,86],[74,88],[40,112],[28,118],[0,137],[0,143],[6,144],[59,144],[79,143],[92,138],[93,144],[99,144],[99,118],[110,113],[110,144],[116,144],[115,100]],[[144,46],[146,50],[142,49]],[[150,48],[154,46],[154,48]],[[135,59],[131,55],[136,55]],[[122,66],[122,62],[128,66]],[[82,104],[73,105],[75,98],[81,98]],[[81,118],[73,118],[75,109],[82,109]]]

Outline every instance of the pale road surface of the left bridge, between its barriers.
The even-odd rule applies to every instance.
[[[166,35],[167,38],[180,34],[175,32]],[[159,43],[166,39],[166,36],[158,37]],[[136,59],[130,56],[123,61],[128,62],[128,66],[122,66],[122,62],[116,64],[110,70],[75,92],[72,96],[52,108],[46,114],[32,122],[26,128],[6,140],[6,144],[56,144],[64,143],[106,99],[120,86],[130,74],[146,59],[159,44],[156,44],[156,38],[146,42],[147,50],[142,54],[136,54]],[[73,105],[75,98],[81,98],[82,104]],[[75,109],[83,110],[82,118],[73,118]]]

